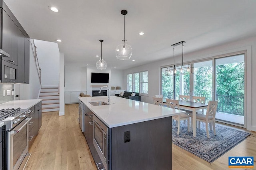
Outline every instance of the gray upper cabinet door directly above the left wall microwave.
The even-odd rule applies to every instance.
[[[2,49],[10,54],[2,59],[18,65],[18,27],[5,10],[2,10],[2,15]]]

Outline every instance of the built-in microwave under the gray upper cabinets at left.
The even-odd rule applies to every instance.
[[[2,60],[1,83],[18,83],[18,66]]]

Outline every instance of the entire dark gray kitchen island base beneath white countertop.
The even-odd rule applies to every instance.
[[[84,134],[99,170],[172,169],[172,117],[113,128],[106,127],[106,152],[108,154],[104,167],[104,156],[102,157],[99,151],[96,151],[94,138],[97,136],[94,132],[97,130],[94,129],[97,129],[96,126],[103,122],[88,107],[85,105],[83,107]],[[100,123],[97,124],[95,121],[100,121]],[[130,131],[130,142],[124,142],[126,140],[124,132],[128,131]],[[102,136],[104,140],[104,134]]]

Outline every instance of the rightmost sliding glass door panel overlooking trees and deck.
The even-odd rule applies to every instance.
[[[214,63],[214,99],[219,101],[216,119],[244,126],[244,54],[216,58]]]

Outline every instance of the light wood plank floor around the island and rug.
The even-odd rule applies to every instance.
[[[256,168],[256,132],[251,133],[212,164],[172,144],[172,169],[227,170],[228,156],[254,156]],[[26,170],[97,170],[79,127],[78,104],[65,105],[65,116],[59,117],[57,111],[43,113],[42,127],[29,152]]]

